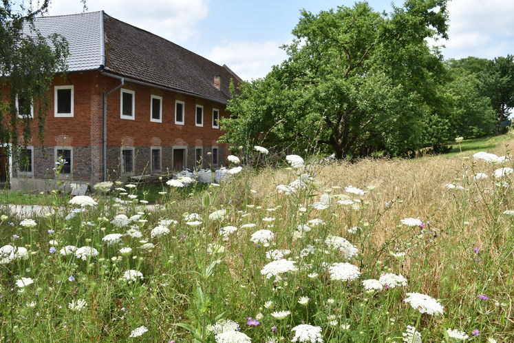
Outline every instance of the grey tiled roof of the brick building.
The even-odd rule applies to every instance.
[[[43,35],[58,33],[67,39],[69,72],[106,70],[219,103],[230,98],[229,81],[241,81],[226,65],[102,11],[39,17],[35,25]],[[221,76],[221,90],[214,87],[214,76]]]

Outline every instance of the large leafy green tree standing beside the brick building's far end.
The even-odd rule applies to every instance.
[[[222,140],[334,152],[337,158],[422,145],[422,117],[444,72],[427,37],[446,37],[446,0],[408,0],[391,14],[365,2],[303,10],[288,59],[244,83],[228,105]]]

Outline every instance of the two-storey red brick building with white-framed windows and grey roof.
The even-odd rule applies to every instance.
[[[228,116],[229,83],[241,81],[226,65],[103,11],[35,25],[67,39],[68,71],[54,78],[44,142],[33,138],[23,163],[0,158],[13,189],[46,188],[58,156],[68,162],[61,177],[91,184],[224,165],[218,120]],[[20,115],[33,115],[24,107]]]

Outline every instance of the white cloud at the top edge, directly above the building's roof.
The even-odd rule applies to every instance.
[[[87,0],[88,12],[105,10],[125,21],[173,42],[184,42],[200,35],[198,24],[208,14],[208,0]],[[48,14],[83,12],[79,0],[54,0]]]

